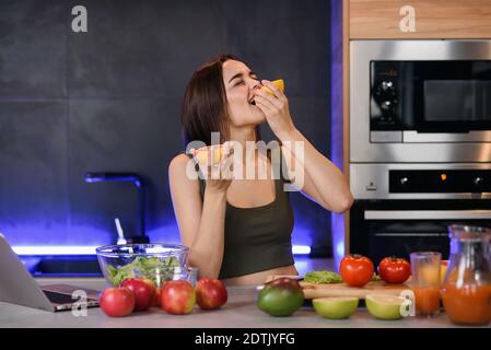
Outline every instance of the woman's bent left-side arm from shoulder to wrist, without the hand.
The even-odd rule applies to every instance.
[[[186,174],[189,158],[179,154],[168,166],[174,212],[183,244],[189,247],[188,264],[200,277],[218,278],[223,259],[226,180],[207,182],[201,201],[199,180]]]

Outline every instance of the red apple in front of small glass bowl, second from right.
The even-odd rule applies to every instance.
[[[196,293],[188,281],[165,282],[161,291],[161,307],[173,315],[186,315],[196,304]]]

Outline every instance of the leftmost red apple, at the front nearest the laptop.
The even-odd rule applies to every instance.
[[[135,310],[135,294],[127,288],[108,288],[101,294],[100,304],[107,316],[128,316]]]

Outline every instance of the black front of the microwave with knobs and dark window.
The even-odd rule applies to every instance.
[[[370,69],[371,131],[491,130],[491,60],[373,60]]]

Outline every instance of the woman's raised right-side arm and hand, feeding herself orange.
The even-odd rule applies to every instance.
[[[293,168],[294,163],[303,168],[303,186],[299,189],[328,210],[341,213],[350,209],[353,196],[344,175],[295,128],[288,98],[278,86],[269,81],[262,83],[274,92],[274,96],[256,90],[256,104],[264,112],[271,130],[282,141],[288,167]],[[303,154],[296,154],[294,142],[303,142]],[[295,166],[295,172],[299,171]]]

